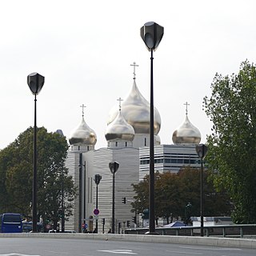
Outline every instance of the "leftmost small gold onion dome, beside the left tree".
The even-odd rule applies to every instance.
[[[85,119],[82,117],[82,122],[75,128],[70,134],[70,145],[92,145],[94,146],[97,142],[97,136],[94,130],[87,126]]]

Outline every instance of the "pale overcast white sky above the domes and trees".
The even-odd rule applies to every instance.
[[[154,52],[154,106],[162,144],[185,120],[200,130],[212,123],[202,110],[216,73],[238,73],[255,62],[254,0],[22,0],[0,1],[0,149],[34,126],[34,96],[26,83],[38,72],[45,84],[37,97],[37,124],[69,138],[82,118],[106,147],[112,107],[136,82],[150,102],[150,52],[140,36],[146,22],[164,27]]]

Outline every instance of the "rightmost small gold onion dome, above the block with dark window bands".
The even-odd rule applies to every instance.
[[[174,130],[174,144],[198,144],[201,141],[201,134],[197,127],[193,126],[186,114],[182,126]]]

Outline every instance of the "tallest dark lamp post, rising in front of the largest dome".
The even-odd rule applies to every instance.
[[[153,51],[162,40],[163,27],[155,22],[147,22],[141,28],[141,37],[151,52],[150,57],[150,227],[147,234],[155,233],[154,224],[154,86],[153,86]]]

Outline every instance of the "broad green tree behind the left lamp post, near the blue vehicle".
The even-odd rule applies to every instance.
[[[31,218],[34,129],[29,128],[0,151],[0,212],[18,212]],[[38,128],[38,219],[60,219],[62,189],[65,215],[71,215],[76,196],[65,159],[68,145],[60,134]]]

